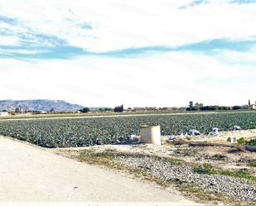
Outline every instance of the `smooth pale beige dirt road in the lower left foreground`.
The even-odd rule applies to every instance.
[[[0,137],[0,162],[0,205],[3,202],[196,205],[152,184],[4,137]]]

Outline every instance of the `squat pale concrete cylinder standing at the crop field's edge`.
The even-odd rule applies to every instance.
[[[142,143],[149,143],[154,145],[161,145],[161,130],[160,126],[141,126],[140,127],[140,141]]]

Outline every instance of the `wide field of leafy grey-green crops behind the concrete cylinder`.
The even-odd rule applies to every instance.
[[[142,124],[161,125],[162,135],[176,135],[195,128],[203,133],[234,125],[249,129],[256,125],[256,113],[206,113],[133,117],[91,117],[1,121],[0,134],[44,147],[92,146],[125,141],[139,133]]]

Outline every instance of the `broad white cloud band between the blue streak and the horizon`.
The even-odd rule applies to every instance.
[[[181,106],[190,100],[246,103],[255,93],[250,79],[256,71],[248,73],[192,53],[140,59],[0,60],[0,65],[1,98],[65,99],[110,107]]]

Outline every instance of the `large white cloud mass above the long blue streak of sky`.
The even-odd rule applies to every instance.
[[[256,4],[214,1],[178,9],[189,1],[0,2],[2,15],[17,18],[33,31],[58,36],[72,46],[95,52],[176,46],[223,37],[244,39],[256,34]],[[82,22],[90,22],[94,29],[80,28]]]

